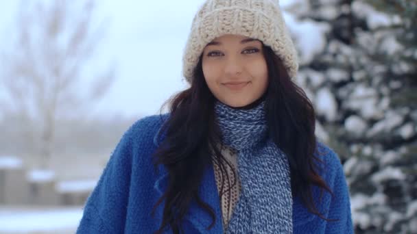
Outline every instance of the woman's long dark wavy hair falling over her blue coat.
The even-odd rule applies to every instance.
[[[320,159],[314,154],[313,105],[305,92],[291,81],[272,49],[263,46],[263,51],[269,79],[264,99],[270,137],[288,155],[293,196],[300,196],[311,213],[323,218],[314,204],[312,186],[320,187],[322,192],[332,192],[316,168]],[[213,208],[198,196],[198,187],[208,166],[217,164],[222,178],[228,177],[225,169],[227,161],[219,151],[222,136],[215,124],[215,101],[204,79],[200,57],[193,70],[191,87],[171,101],[170,116],[163,125],[163,131],[160,131],[165,138],[154,153],[155,166],[165,166],[169,177],[167,189],[154,205],[155,210],[165,200],[162,223],[156,233],[162,233],[167,227],[174,233],[180,233],[180,223],[192,200],[213,218],[208,229],[215,224]]]

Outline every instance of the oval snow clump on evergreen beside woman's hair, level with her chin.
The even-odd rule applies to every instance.
[[[329,88],[322,88],[318,91],[315,99],[315,108],[318,114],[322,114],[327,120],[334,121],[337,118],[337,103],[335,96]]]

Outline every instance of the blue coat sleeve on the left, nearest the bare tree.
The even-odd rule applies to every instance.
[[[110,156],[95,189],[88,197],[78,234],[123,233],[132,165],[132,127]]]

